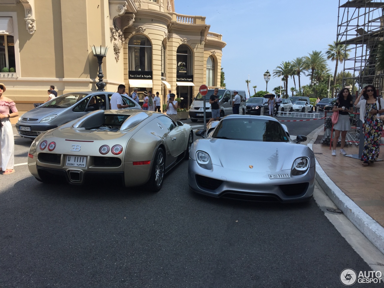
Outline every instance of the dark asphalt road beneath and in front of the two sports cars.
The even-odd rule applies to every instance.
[[[30,141],[15,141],[26,162]],[[210,199],[189,192],[186,161],[155,194],[42,184],[16,168],[0,175],[2,288],[343,287],[344,268],[371,270],[314,200]]]

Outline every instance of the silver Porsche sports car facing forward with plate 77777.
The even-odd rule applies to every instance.
[[[214,122],[211,122],[214,123]],[[286,126],[268,116],[230,115],[215,127],[197,131],[190,149],[192,191],[255,201],[300,202],[313,196],[315,159],[293,142]]]

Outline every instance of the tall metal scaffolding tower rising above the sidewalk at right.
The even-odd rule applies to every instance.
[[[382,93],[383,71],[376,70],[376,54],[379,41],[383,40],[384,1],[339,0],[336,41],[348,46],[349,58],[344,61],[343,83],[353,79],[357,84],[372,84]],[[342,4],[344,3],[344,4]],[[346,77],[350,72],[353,76]]]

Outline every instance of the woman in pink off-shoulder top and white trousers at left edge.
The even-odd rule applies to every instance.
[[[4,92],[5,85],[0,83],[0,173],[9,175],[15,172],[15,169],[13,169],[15,164],[15,140],[13,139],[12,124],[9,118],[17,117],[19,113],[17,112],[15,102],[3,96]],[[12,113],[10,113],[10,110]]]

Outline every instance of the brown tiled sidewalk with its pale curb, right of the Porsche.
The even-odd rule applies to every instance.
[[[368,167],[360,159],[340,154],[331,156],[329,145],[320,144],[324,126],[308,136],[316,163],[316,180],[344,215],[384,254],[384,161]],[[316,141],[317,139],[317,141]],[[344,147],[347,154],[359,154],[359,146]],[[384,146],[379,159],[384,160]]]

